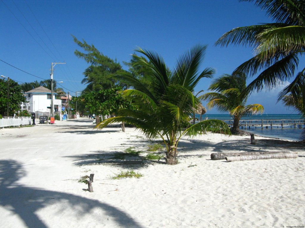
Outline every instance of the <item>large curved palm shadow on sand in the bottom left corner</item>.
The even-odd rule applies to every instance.
[[[52,206],[50,213],[56,214],[54,219],[57,215],[59,217],[63,216],[64,212],[70,209],[70,213],[73,213],[75,217],[73,220],[81,220],[82,216],[89,214],[93,217],[96,215],[96,221],[101,219],[107,221],[107,218],[101,217],[102,211],[104,211],[107,217],[111,216],[119,226],[141,227],[126,212],[98,200],[63,192],[31,188],[16,183],[25,175],[26,172],[19,162],[0,160],[0,206],[18,215],[27,227],[47,227],[43,222],[44,218],[39,217],[37,213],[48,206]],[[97,213],[96,210],[99,210],[99,212]],[[73,223],[73,221],[70,221],[70,223]],[[62,226],[69,227],[69,224],[62,224]]]

